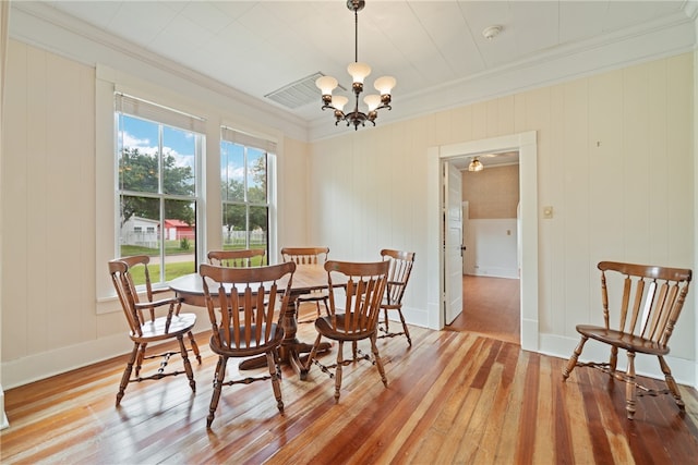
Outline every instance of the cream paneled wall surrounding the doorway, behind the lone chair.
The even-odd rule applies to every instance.
[[[540,347],[565,356],[575,325],[601,319],[598,261],[694,266],[694,83],[685,53],[315,143],[311,242],[335,257],[417,252],[405,304],[428,308],[429,148],[535,131]],[[688,305],[672,355],[693,383]]]

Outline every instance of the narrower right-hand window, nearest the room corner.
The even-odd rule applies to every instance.
[[[224,249],[265,248],[269,232],[269,159],[274,143],[221,129],[220,197]]]

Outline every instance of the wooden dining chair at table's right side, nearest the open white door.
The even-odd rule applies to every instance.
[[[396,335],[405,334],[408,345],[412,345],[410,330],[407,328],[405,316],[402,315],[402,296],[405,295],[405,289],[412,272],[412,265],[414,265],[414,253],[384,248],[381,250],[381,257],[383,257],[384,260],[389,260],[390,270],[388,271],[385,297],[381,303],[384,315],[384,326],[378,326],[378,330],[382,332],[378,338],[395,338]],[[397,311],[400,322],[402,323],[402,331],[390,332],[390,328],[388,327],[388,311]]]

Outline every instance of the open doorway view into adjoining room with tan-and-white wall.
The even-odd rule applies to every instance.
[[[468,170],[473,158],[480,170]],[[447,329],[519,344],[519,155],[452,163],[462,174],[462,314]]]

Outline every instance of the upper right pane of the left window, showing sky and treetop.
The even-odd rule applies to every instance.
[[[195,194],[195,134],[163,126],[163,192],[165,194]]]

